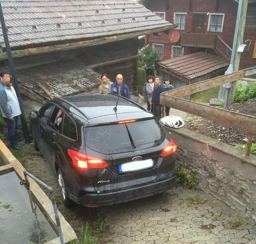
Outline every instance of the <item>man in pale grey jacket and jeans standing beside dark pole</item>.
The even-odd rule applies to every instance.
[[[18,118],[21,114],[20,104],[14,88],[11,85],[11,76],[9,71],[0,70],[0,107],[2,116],[6,120],[8,128],[8,137],[11,147],[19,149],[21,144],[17,141]]]

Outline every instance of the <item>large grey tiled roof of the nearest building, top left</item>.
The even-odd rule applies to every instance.
[[[1,0],[1,4],[12,48],[172,26],[134,0]]]

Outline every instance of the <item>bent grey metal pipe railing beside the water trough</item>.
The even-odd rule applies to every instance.
[[[25,181],[22,182],[22,185],[25,185],[26,188],[27,188],[27,185],[28,185],[28,189],[30,190],[29,181],[28,181],[28,176],[29,176],[36,183],[38,183],[39,185],[45,187],[50,192],[50,199],[52,201],[52,207],[53,207],[53,210],[54,210],[54,216],[55,216],[56,225],[57,225],[57,229],[58,229],[58,233],[59,233],[59,239],[60,239],[61,244],[65,244],[64,238],[63,238],[62,229],[61,229],[61,224],[60,224],[60,220],[59,220],[59,213],[58,213],[58,209],[57,209],[57,205],[56,205],[56,200],[55,200],[55,196],[54,196],[54,190],[52,189],[52,187],[49,187],[48,185],[43,183],[43,181],[41,181],[40,179],[37,179],[37,177],[35,177],[32,174],[30,174],[28,171],[25,170],[23,173],[24,173],[24,176],[25,176]],[[28,184],[26,182],[28,182]],[[32,203],[31,191],[30,191],[29,195],[30,195],[30,203],[32,205],[32,211],[33,211],[33,203]]]

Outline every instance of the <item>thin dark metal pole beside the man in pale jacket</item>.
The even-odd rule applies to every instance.
[[[24,138],[25,138],[26,143],[30,143],[29,134],[28,134],[28,126],[27,126],[25,115],[24,115],[23,104],[22,104],[20,91],[19,91],[19,87],[18,87],[18,82],[17,82],[16,70],[15,70],[14,63],[13,63],[13,57],[11,55],[11,48],[10,48],[9,39],[8,39],[8,35],[7,35],[6,24],[4,22],[4,14],[2,11],[1,1],[0,1],[0,22],[1,22],[1,27],[2,27],[3,36],[4,36],[4,43],[6,46],[6,53],[7,53],[7,57],[8,57],[9,68],[11,71],[11,79],[12,79],[13,87],[15,89],[15,92],[17,94],[17,98],[18,98],[18,101],[20,104],[20,110],[21,110],[20,119],[21,119],[22,129],[23,129],[23,133],[24,133]]]

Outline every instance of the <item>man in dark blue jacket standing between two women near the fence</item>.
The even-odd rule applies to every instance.
[[[153,104],[153,114],[160,120],[161,118],[161,107],[160,105],[160,93],[164,92],[165,89],[161,84],[161,79],[159,76],[155,77],[155,85],[152,94],[152,104]]]

